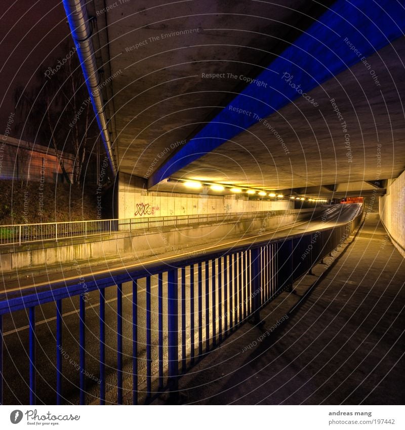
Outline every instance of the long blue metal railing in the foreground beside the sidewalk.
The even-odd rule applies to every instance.
[[[52,286],[45,290],[31,290],[22,294],[20,291],[0,296],[0,404],[3,404],[3,386],[9,393],[13,392],[15,381],[6,378],[7,368],[3,368],[3,319],[7,314],[24,310],[28,316],[28,338],[25,345],[26,354],[21,358],[20,365],[27,372],[29,403],[34,405],[42,402],[43,393],[36,392],[36,378],[39,367],[46,366],[46,391],[54,387],[53,403],[62,404],[64,396],[63,355],[73,355],[74,351],[66,351],[63,344],[62,328],[66,324],[63,319],[63,307],[68,306],[74,297],[78,297],[78,351],[77,363],[78,384],[76,389],[80,404],[86,404],[91,397],[87,395],[87,387],[93,383],[86,377],[87,351],[96,354],[99,363],[97,373],[97,398],[101,405],[106,403],[106,378],[110,376],[109,387],[114,389],[113,402],[124,402],[123,376],[124,365],[126,375],[126,393],[131,395],[132,402],[138,403],[139,384],[141,376],[146,379],[146,397],[158,390],[168,387],[175,396],[178,389],[178,378],[195,362],[221,343],[229,334],[241,326],[248,318],[260,319],[260,309],[286,289],[292,289],[293,282],[308,272],[311,267],[323,257],[337,248],[359,224],[362,208],[359,208],[353,219],[347,224],[334,228],[325,228],[307,234],[297,234],[285,239],[244,245],[222,252],[213,252],[192,258],[174,258],[170,262],[160,262],[125,270],[109,272],[98,278],[91,277],[89,281],[82,280],[74,285]],[[304,257],[305,255],[305,257]],[[157,281],[157,299],[152,307],[151,279]],[[157,280],[156,280],[157,278]],[[186,278],[187,283],[186,283]],[[146,285],[140,288],[139,285]],[[131,283],[126,300],[130,300],[130,310],[123,315],[123,284]],[[85,290],[84,290],[84,287]],[[125,284],[127,288],[127,284]],[[90,292],[98,292],[96,312],[99,328],[93,327],[91,336],[86,336],[86,296]],[[165,291],[165,295],[164,295]],[[144,295],[144,296],[143,296]],[[155,293],[153,294],[153,296]],[[106,296],[116,298],[116,312],[112,319],[106,318]],[[97,295],[96,295],[97,297]],[[203,301],[204,298],[204,301]],[[139,303],[145,302],[140,307]],[[164,300],[166,303],[164,303]],[[109,300],[110,301],[110,300]],[[55,363],[42,363],[36,360],[35,312],[42,312],[41,305],[54,303],[56,331],[41,344],[47,357],[55,357]],[[164,312],[167,323],[164,324]],[[186,309],[189,308],[188,311]],[[48,309],[49,310],[49,309]],[[144,318],[140,315],[145,311]],[[70,312],[71,313],[71,312]],[[21,315],[21,314],[20,314]],[[142,314],[143,315],[143,314]],[[203,319],[203,316],[205,318]],[[90,315],[94,318],[94,312]],[[125,332],[123,330],[123,319]],[[203,324],[204,321],[204,324]],[[113,339],[116,353],[114,363],[106,362],[106,327],[114,327]],[[116,330],[115,330],[116,327]],[[76,330],[76,329],[75,329]],[[146,330],[146,343],[141,345],[139,333]],[[152,343],[152,331],[158,333],[158,341]],[[66,334],[66,331],[64,331]],[[110,332],[111,333],[111,332]],[[123,338],[126,352],[123,353]],[[48,340],[49,339],[49,340]],[[115,343],[116,342],[116,343]],[[128,342],[130,342],[128,344]],[[140,347],[146,348],[146,359],[141,357]],[[73,348],[73,347],[72,347]],[[164,363],[164,348],[168,350],[167,368]],[[189,354],[186,350],[189,349]],[[10,350],[8,347],[8,354]],[[129,350],[131,352],[129,353]],[[116,361],[115,361],[116,360]],[[47,360],[48,361],[48,360]],[[146,362],[145,366],[140,366]],[[11,363],[11,365],[14,365]],[[55,377],[50,376],[50,366],[55,366]],[[66,365],[65,365],[66,366]],[[156,380],[152,380],[152,367],[156,369]],[[76,369],[76,367],[74,368]],[[74,370],[76,371],[76,370]],[[111,385],[111,372],[112,380]],[[44,378],[41,373],[41,379]],[[65,367],[66,375],[66,367]],[[115,375],[115,376],[114,376]],[[72,389],[71,384],[70,390]],[[132,388],[128,390],[128,385]],[[66,387],[65,387],[66,389]],[[111,393],[111,391],[109,392]],[[9,395],[8,398],[16,398]],[[21,394],[22,396],[22,394]],[[111,396],[111,394],[110,394]],[[92,397],[94,399],[94,397]],[[28,401],[28,399],[27,399]],[[128,399],[126,398],[126,401]]]

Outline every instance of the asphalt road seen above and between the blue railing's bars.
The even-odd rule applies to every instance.
[[[271,239],[279,239],[295,234],[302,234],[309,231],[316,231],[320,228],[330,228],[335,225],[340,225],[350,220],[357,206],[353,205],[336,205],[328,208],[328,213],[323,214],[315,220],[288,225],[278,229],[274,229],[265,234],[252,234],[241,239],[225,240],[209,247],[195,247],[189,252],[198,252],[205,249],[206,252],[216,251],[221,249],[229,249],[232,246],[254,243],[256,241],[264,241]],[[178,254],[177,254],[178,255]],[[165,258],[173,258],[173,255],[159,255],[156,258],[145,258],[141,262],[145,265],[148,262],[162,261]],[[109,266],[105,270],[130,270],[134,265],[125,266],[117,262],[113,266]],[[211,270],[211,269],[210,269]],[[100,270],[101,272],[103,270]],[[89,276],[99,275],[94,271]],[[197,279],[195,272],[194,279]],[[165,280],[165,279],[164,279]],[[205,309],[205,265],[203,264],[203,309]],[[21,291],[22,294],[32,290],[33,285],[38,288],[41,285],[51,283],[66,283],[77,282],[77,273],[69,276],[67,273],[49,274],[47,277],[37,277],[34,280],[27,280],[24,283],[9,283],[7,291]],[[143,388],[146,374],[146,328],[145,328],[145,308],[146,308],[146,280],[138,281],[138,363],[139,363],[139,382],[140,389]],[[209,284],[210,303],[211,303],[211,281]],[[99,296],[98,291],[91,292],[89,299],[86,302],[86,371],[87,376],[87,403],[97,402],[99,396]],[[186,334],[187,334],[187,355],[190,353],[190,288],[189,288],[189,273],[186,277]],[[218,292],[216,293],[218,294]],[[106,390],[107,401],[114,403],[116,400],[116,288],[109,287],[105,289],[106,295]],[[198,294],[195,288],[194,309],[197,310]],[[164,332],[167,330],[167,297],[166,282],[164,282]],[[179,298],[181,292],[179,291]],[[218,304],[218,296],[216,297]],[[211,308],[211,306],[210,306]],[[217,305],[217,316],[218,316]],[[230,309],[226,309],[229,314]],[[225,314],[225,309],[222,309],[222,315]],[[55,303],[48,303],[36,308],[36,384],[37,384],[37,403],[38,404],[55,404],[56,402],[56,308]],[[132,390],[132,283],[123,284],[123,350],[124,350],[124,390]],[[151,352],[152,352],[152,373],[157,372],[157,277],[151,277],[151,321],[152,321],[152,336],[151,336]],[[209,321],[212,321],[212,309],[210,309]],[[78,403],[78,386],[79,372],[77,366],[79,363],[79,317],[78,317],[78,297],[73,297],[63,300],[63,397],[64,403]],[[223,324],[223,320],[217,320],[218,324]],[[179,328],[181,323],[179,321]],[[203,336],[206,335],[206,314],[203,311]],[[209,329],[212,333],[212,324]],[[198,327],[197,318],[195,318],[195,356],[198,351]],[[179,343],[181,344],[181,332],[179,331]],[[166,345],[166,339],[164,345]],[[5,404],[27,404],[28,403],[28,369],[29,359],[27,353],[28,345],[28,317],[26,311],[18,311],[4,317],[4,403]],[[205,345],[205,342],[204,342]],[[164,347],[164,366],[167,366],[167,348]],[[154,385],[153,385],[154,386]],[[126,396],[124,394],[124,397]]]

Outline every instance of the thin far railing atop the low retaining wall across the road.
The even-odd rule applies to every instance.
[[[299,210],[241,212],[229,214],[198,214],[179,216],[158,216],[148,218],[121,218],[90,221],[48,222],[37,224],[0,225],[1,245],[23,245],[33,242],[58,241],[61,239],[90,238],[117,232],[145,231],[152,228],[179,227],[230,220],[262,218],[266,216],[289,215]],[[302,210],[301,212],[305,212]],[[312,211],[312,209],[307,210]]]

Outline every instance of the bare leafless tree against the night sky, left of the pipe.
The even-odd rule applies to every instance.
[[[39,68],[30,87],[16,89],[16,123],[26,140],[53,147],[66,181],[79,185],[100,135],[76,50],[64,51],[52,66]],[[66,171],[64,151],[74,155],[73,172]]]

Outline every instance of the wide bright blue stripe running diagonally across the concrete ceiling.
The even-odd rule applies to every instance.
[[[401,0],[402,2],[402,0]],[[404,34],[396,0],[339,0],[149,178],[151,187]],[[346,39],[347,38],[347,39]],[[345,40],[346,39],[346,40]],[[359,55],[360,54],[360,55]],[[277,72],[275,74],[274,72]],[[288,81],[289,75],[293,76]],[[283,77],[284,76],[284,77]],[[316,103],[314,101],[313,103]],[[252,112],[243,114],[230,107]],[[314,106],[316,108],[316,105]],[[256,115],[256,116],[255,116]]]

